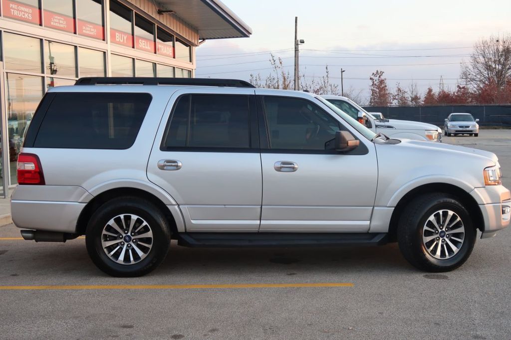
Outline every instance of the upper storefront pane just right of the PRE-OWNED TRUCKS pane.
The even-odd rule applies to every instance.
[[[42,10],[44,27],[75,33],[73,0],[44,0]]]

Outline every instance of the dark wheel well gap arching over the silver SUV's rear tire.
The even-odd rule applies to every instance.
[[[162,213],[165,214],[165,217],[170,223],[172,234],[174,235],[177,234],[176,221],[174,220],[174,216],[172,216],[172,213],[167,208],[165,203],[161,202],[161,200],[158,199],[156,196],[152,195],[152,193],[136,188],[110,189],[100,193],[98,196],[90,200],[89,203],[87,203],[87,205],[85,206],[85,208],[83,208],[82,212],[80,213],[80,216],[78,217],[78,222],[76,224],[77,233],[80,235],[85,234],[85,230],[87,228],[87,224],[90,220],[90,217],[92,216],[92,214],[94,214],[96,210],[98,210],[99,207],[101,207],[103,204],[105,204],[111,199],[123,196],[140,197],[153,203],[156,207],[158,207],[158,209],[161,210]]]

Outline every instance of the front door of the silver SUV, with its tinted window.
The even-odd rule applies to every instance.
[[[258,91],[264,117],[260,231],[368,231],[378,178],[374,144],[317,99]],[[325,150],[338,130],[353,133],[359,147]]]

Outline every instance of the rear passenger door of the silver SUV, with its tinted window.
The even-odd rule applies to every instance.
[[[262,173],[254,90],[180,90],[170,103],[149,180],[176,200],[189,232],[257,232]]]

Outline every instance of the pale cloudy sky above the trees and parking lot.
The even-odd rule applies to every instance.
[[[430,0],[223,0],[251,28],[250,38],[206,41],[197,48],[196,77],[263,79],[270,51],[293,71],[294,17],[298,16],[300,74],[321,77],[368,96],[368,78],[385,71],[391,88],[413,79],[421,92],[438,89],[440,76],[452,88],[460,62],[480,38],[511,32],[511,1]],[[403,51],[409,50],[409,51]],[[427,64],[427,65],[426,65]],[[310,78],[309,78],[310,79]]]

